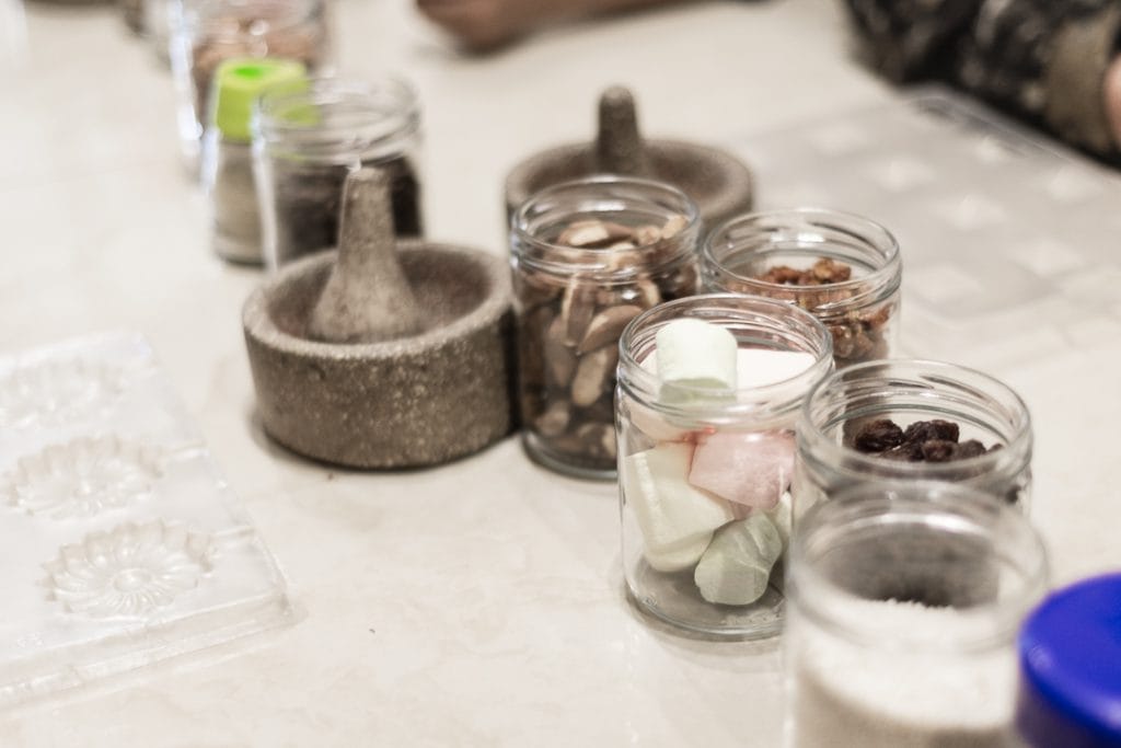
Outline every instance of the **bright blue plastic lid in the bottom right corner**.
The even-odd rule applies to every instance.
[[[1016,726],[1039,748],[1121,748],[1121,573],[1047,598],[1020,631]]]

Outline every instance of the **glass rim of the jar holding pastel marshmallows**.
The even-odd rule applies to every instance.
[[[656,321],[659,316],[665,316],[666,318],[658,323],[657,327],[647,330],[646,334],[649,335],[654,333],[664,324],[673,320],[688,317],[704,320],[705,315],[674,314],[675,312],[680,312],[698,305],[706,305],[708,308],[723,312],[739,312],[741,314],[753,313],[758,315],[757,320],[767,318],[775,325],[778,325],[781,320],[787,320],[788,322],[793,321],[793,324],[789,324],[787,329],[796,336],[807,342],[807,347],[810,350],[805,352],[812,352],[815,355],[815,360],[809,367],[797,375],[769,385],[748,388],[736,387],[726,390],[714,390],[710,387],[682,385],[680,390],[684,394],[695,395],[697,397],[689,398],[693,401],[687,405],[675,406],[673,404],[665,403],[661,398],[659,398],[661,382],[657,375],[645,369],[641,361],[639,361],[636,357],[634,349],[637,347],[637,339],[643,333],[643,329],[648,329],[649,325],[652,324],[651,321]],[[750,317],[744,317],[744,321],[749,320]],[[620,387],[624,387],[632,390],[633,394],[639,395],[646,407],[652,407],[667,415],[701,419],[706,417],[712,418],[715,416],[734,418],[738,416],[758,414],[759,403],[767,401],[768,396],[773,397],[777,394],[784,394],[791,390],[791,388],[799,381],[804,381],[806,386],[804,389],[798,390],[798,395],[784,399],[776,399],[770,409],[786,410],[800,404],[806,394],[812,389],[813,385],[824,378],[832,370],[832,368],[833,338],[825,325],[823,325],[819,320],[805,310],[798,308],[797,306],[786,302],[779,302],[761,296],[748,296],[744,294],[700,294],[696,296],[686,296],[658,304],[657,306],[646,310],[628,323],[628,325],[623,329],[622,334],[619,336],[619,367],[617,380]],[[735,401],[720,401],[714,403],[713,405],[704,405],[706,400],[713,400],[713,395],[731,395],[735,398]],[[751,397],[744,397],[747,395],[750,395]]]

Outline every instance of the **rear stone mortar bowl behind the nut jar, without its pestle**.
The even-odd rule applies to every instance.
[[[732,154],[679,140],[646,140],[645,147],[650,168],[645,176],[692,197],[706,227],[751,211],[751,170]],[[557,146],[519,163],[506,179],[507,218],[539,190],[595,174],[595,163],[594,142]]]

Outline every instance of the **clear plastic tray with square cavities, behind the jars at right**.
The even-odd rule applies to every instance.
[[[1121,321],[1121,175],[938,86],[742,138],[762,207],[888,227],[901,354],[1000,368]]]

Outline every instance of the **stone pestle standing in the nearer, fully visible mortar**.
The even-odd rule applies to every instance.
[[[389,178],[377,168],[346,177],[339,257],[307,329],[312,338],[331,343],[377,343],[424,330],[397,256]]]

